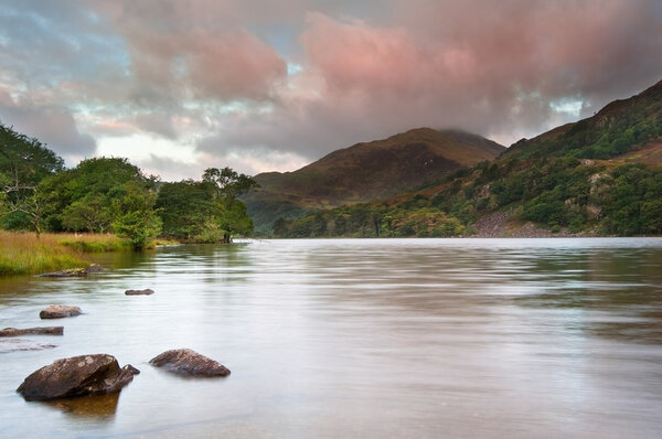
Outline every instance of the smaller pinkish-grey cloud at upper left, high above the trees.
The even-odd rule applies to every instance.
[[[287,63],[242,25],[227,22],[226,7],[201,0],[97,2],[126,42],[138,105],[270,98]]]

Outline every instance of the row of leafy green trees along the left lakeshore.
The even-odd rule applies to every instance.
[[[115,233],[137,249],[159,236],[229,243],[253,221],[237,200],[250,176],[210,168],[201,180],[162,182],[122,158],[94,158],[66,169],[38,139],[0,124],[0,227]]]

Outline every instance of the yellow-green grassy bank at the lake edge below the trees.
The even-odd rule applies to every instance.
[[[114,235],[12,233],[0,231],[0,276],[56,271],[88,265],[88,253],[129,249]]]

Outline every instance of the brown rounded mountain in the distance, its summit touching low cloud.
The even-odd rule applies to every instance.
[[[258,174],[260,189],[243,200],[256,229],[266,232],[278,217],[394,195],[503,151],[477,135],[418,128],[333,151],[293,172]]]

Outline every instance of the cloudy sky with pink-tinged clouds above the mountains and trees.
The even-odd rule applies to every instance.
[[[510,146],[660,79],[659,0],[0,0],[0,122],[166,181],[418,127]]]

